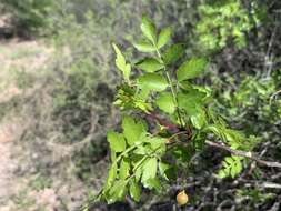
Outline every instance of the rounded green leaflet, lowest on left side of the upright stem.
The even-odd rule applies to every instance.
[[[173,102],[173,97],[169,92],[160,93],[159,98],[155,100],[155,104],[162,111],[172,114],[175,111],[175,104]]]

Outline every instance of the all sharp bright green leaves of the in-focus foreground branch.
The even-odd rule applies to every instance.
[[[167,158],[174,154],[179,145],[182,149],[191,147],[193,153],[189,157],[192,158],[203,149],[209,134],[232,149],[251,150],[255,143],[254,139],[228,129],[224,121],[208,107],[212,101],[210,91],[192,82],[207,69],[208,60],[190,58],[179,64],[184,46],[168,46],[171,42],[170,28],[158,33],[147,16],[143,16],[140,28],[143,38],[133,46],[150,54],[137,64],[126,61],[121,50],[113,44],[116,64],[124,79],[116,104],[131,114],[123,114],[122,131],[108,132],[112,165],[99,199],[106,199],[109,203],[122,200],[128,192],[139,201],[141,185],[160,191],[162,182],[172,182],[174,162]],[[142,74],[130,76],[132,68],[142,70]],[[238,157],[225,158],[223,163],[222,178],[235,177],[242,170]]]

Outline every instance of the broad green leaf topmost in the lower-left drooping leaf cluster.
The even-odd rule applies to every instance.
[[[132,118],[127,115],[123,118],[122,128],[129,145],[140,141],[141,134],[147,132],[147,127],[143,122],[134,122]]]

